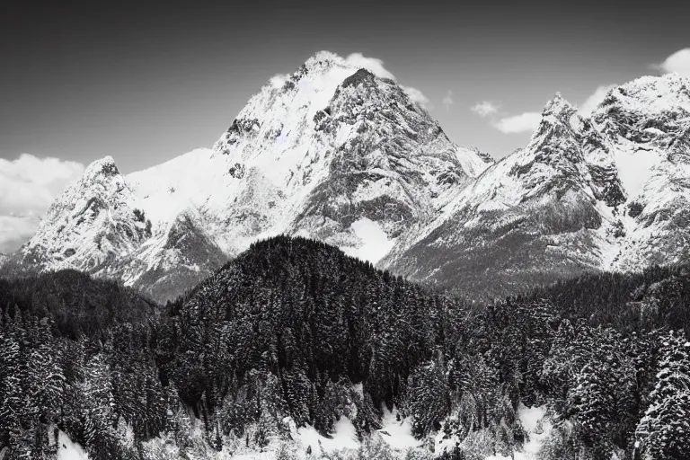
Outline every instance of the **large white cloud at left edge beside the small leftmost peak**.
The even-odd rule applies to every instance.
[[[0,158],[0,251],[15,249],[38,226],[66,184],[84,173],[84,164],[22,154]]]

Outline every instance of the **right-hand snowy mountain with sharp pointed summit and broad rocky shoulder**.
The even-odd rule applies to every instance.
[[[690,82],[642,77],[592,117],[557,94],[529,144],[492,165],[382,265],[498,296],[583,270],[688,259]]]

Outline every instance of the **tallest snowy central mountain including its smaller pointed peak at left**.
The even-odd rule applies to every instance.
[[[273,77],[212,149],[128,176],[110,157],[91,164],[12,265],[87,270],[165,300],[275,234],[376,262],[489,164],[394,80],[320,52]]]

